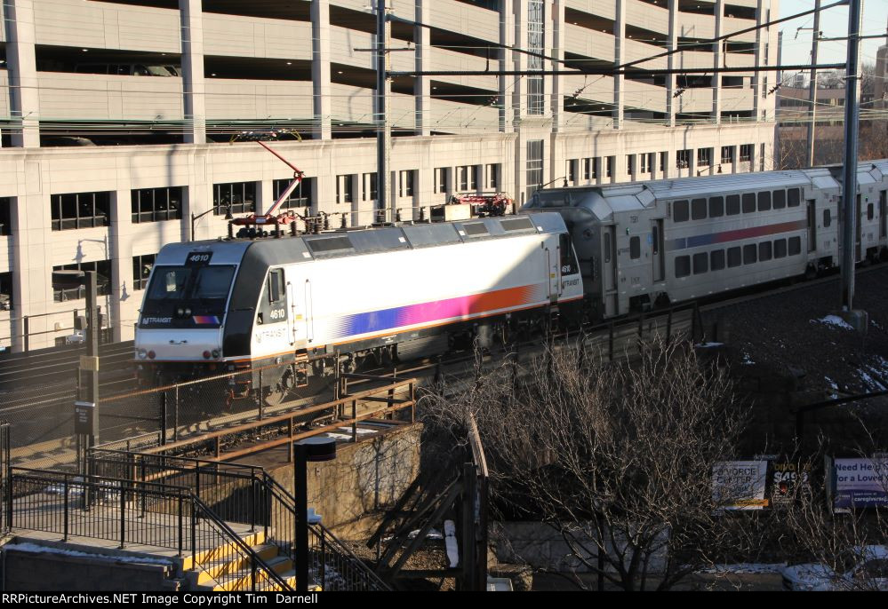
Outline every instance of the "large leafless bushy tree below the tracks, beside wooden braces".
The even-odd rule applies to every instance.
[[[642,346],[631,363],[581,344],[479,373],[470,391],[428,399],[426,421],[440,434],[475,415],[492,492],[560,534],[581,587],[580,571],[670,589],[741,551],[712,489],[744,422],[724,372],[678,344]]]

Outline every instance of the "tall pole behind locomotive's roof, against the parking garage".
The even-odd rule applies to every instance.
[[[388,41],[391,38],[391,22],[388,20],[388,0],[376,0],[376,196],[377,206],[388,214],[388,221],[396,218],[395,203],[389,195],[388,183],[391,171],[391,125],[388,123],[388,97],[391,81],[388,78]]]

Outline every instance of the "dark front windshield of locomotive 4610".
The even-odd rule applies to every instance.
[[[234,275],[231,265],[156,266],[140,325],[219,327]]]

